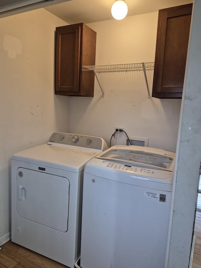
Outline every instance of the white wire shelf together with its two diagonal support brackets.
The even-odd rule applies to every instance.
[[[102,91],[102,97],[104,98],[105,93],[100,85],[97,72],[98,73],[106,73],[106,72],[127,72],[127,71],[140,71],[144,72],[144,79],[147,86],[148,99],[150,98],[149,86],[147,82],[146,70],[153,70],[154,62],[147,63],[126,63],[126,64],[113,64],[113,65],[91,65],[91,66],[82,66],[82,71],[93,71],[97,82],[100,86],[100,90]]]

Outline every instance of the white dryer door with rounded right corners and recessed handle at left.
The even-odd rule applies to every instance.
[[[69,181],[44,172],[17,170],[17,213],[61,232],[68,230]]]

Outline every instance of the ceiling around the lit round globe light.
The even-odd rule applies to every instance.
[[[92,23],[113,19],[111,6],[115,0],[71,0],[45,9],[68,24]],[[150,13],[162,8],[192,3],[193,0],[126,0],[127,16]]]

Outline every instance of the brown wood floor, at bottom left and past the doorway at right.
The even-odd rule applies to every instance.
[[[196,236],[192,268],[201,268],[201,212],[196,212],[194,234]],[[0,268],[67,268],[11,241],[1,246]],[[103,267],[104,268],[104,267]]]

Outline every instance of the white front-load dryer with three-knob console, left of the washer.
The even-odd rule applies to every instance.
[[[53,133],[12,156],[12,241],[73,268],[80,253],[87,161],[107,149],[98,137]]]

